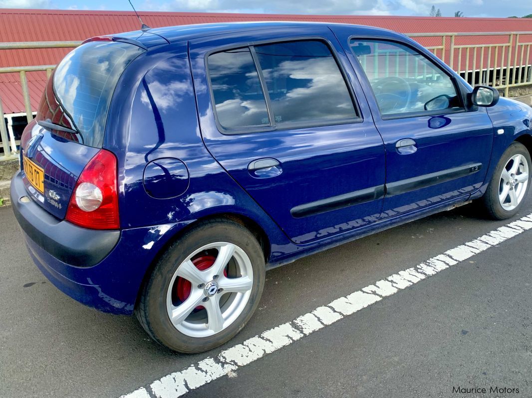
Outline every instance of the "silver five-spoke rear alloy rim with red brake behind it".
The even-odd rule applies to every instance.
[[[202,253],[209,253],[212,258],[212,265],[204,270],[194,263]],[[181,288],[178,295],[180,279],[190,284],[186,282],[186,293]],[[251,260],[242,248],[227,242],[202,246],[181,262],[170,280],[166,300],[168,316],[173,326],[187,336],[212,336],[242,314],[252,287]]]

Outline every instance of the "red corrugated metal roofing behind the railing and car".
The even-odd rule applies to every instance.
[[[514,18],[431,18],[422,16],[275,15],[229,13],[139,12],[152,28],[210,22],[314,21],[371,25],[403,33],[425,32],[511,32],[532,31],[532,19]],[[0,40],[63,41],[84,40],[100,34],[136,30],[139,22],[129,11],[0,10]],[[467,40],[467,42],[465,41]],[[490,41],[487,41],[490,40]],[[457,44],[496,43],[501,37],[457,38]],[[440,39],[420,38],[423,45],[437,45]],[[532,39],[530,40],[532,41]],[[0,67],[56,64],[69,49],[0,50]],[[46,75],[28,73],[31,106],[36,109]],[[4,112],[24,111],[18,75],[0,74],[0,97]]]

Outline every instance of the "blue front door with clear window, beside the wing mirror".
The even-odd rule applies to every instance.
[[[351,52],[385,143],[381,218],[467,198],[479,189],[493,125],[484,108],[464,105],[462,83],[409,41],[353,36],[348,29],[337,35]]]

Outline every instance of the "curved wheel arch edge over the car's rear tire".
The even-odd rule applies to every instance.
[[[137,297],[135,299],[135,308],[138,305],[138,301],[140,298],[140,295],[142,294],[142,290],[144,289],[145,284],[149,280],[149,276],[152,274],[153,269],[157,262],[159,262],[159,259],[161,256],[166,252],[166,250],[179,238],[184,236],[188,231],[194,229],[196,226],[206,222],[206,221],[215,221],[215,220],[229,220],[232,222],[235,222],[239,224],[240,226],[243,226],[244,228],[248,229],[250,232],[253,233],[253,235],[256,237],[257,241],[259,241],[259,244],[262,248],[262,253],[264,254],[264,262],[268,263],[268,258],[270,257],[271,252],[271,244],[270,239],[268,238],[267,233],[264,231],[264,229],[260,226],[259,223],[257,223],[255,220],[251,219],[250,217],[247,217],[246,215],[239,214],[239,213],[232,213],[232,212],[223,212],[223,213],[215,213],[210,215],[205,215],[204,217],[200,217],[193,222],[189,223],[186,227],[181,228],[179,231],[174,233],[165,243],[162,245],[159,250],[157,250],[157,253],[153,257],[151,263],[146,268],[146,271],[144,273],[144,276],[142,278],[142,282],[139,285],[139,289],[137,291]]]

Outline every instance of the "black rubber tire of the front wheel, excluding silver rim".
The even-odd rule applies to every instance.
[[[492,179],[489,181],[486,193],[480,198],[480,203],[483,206],[486,215],[493,220],[506,220],[516,215],[521,209],[521,206],[523,202],[525,202],[525,199],[528,195],[528,190],[530,189],[530,172],[525,196],[523,196],[521,202],[515,209],[510,211],[505,210],[499,201],[499,188],[503,168],[506,166],[506,163],[508,163],[508,161],[517,154],[521,154],[523,158],[526,159],[528,162],[528,170],[532,170],[530,153],[526,149],[525,145],[519,142],[512,143],[502,154],[501,159],[497,163],[497,167],[495,168]]]

